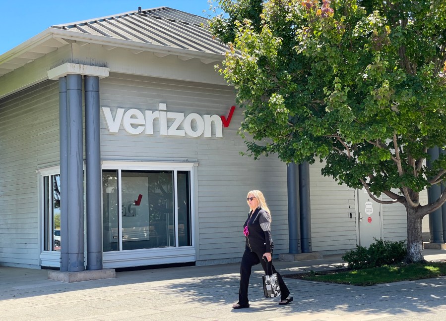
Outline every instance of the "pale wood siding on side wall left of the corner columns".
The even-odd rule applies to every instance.
[[[57,82],[0,101],[0,265],[39,265],[36,169],[59,162]]]

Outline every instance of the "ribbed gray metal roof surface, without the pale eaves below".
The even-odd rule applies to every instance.
[[[51,28],[203,53],[224,54],[228,48],[212,39],[206,27],[206,18],[159,7]]]

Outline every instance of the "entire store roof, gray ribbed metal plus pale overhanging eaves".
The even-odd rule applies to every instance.
[[[1,54],[0,77],[73,42],[101,44],[109,50],[151,51],[159,56],[177,54],[183,60],[197,57],[205,63],[222,60],[228,51],[213,39],[206,18],[158,7],[51,26]]]

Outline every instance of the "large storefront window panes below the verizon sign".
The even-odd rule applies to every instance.
[[[103,170],[102,177],[104,252],[191,245],[189,171]]]

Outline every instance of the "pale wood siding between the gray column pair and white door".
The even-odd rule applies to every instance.
[[[355,190],[322,176],[320,169],[324,165],[319,160],[310,165],[312,249],[353,249],[357,243]]]

